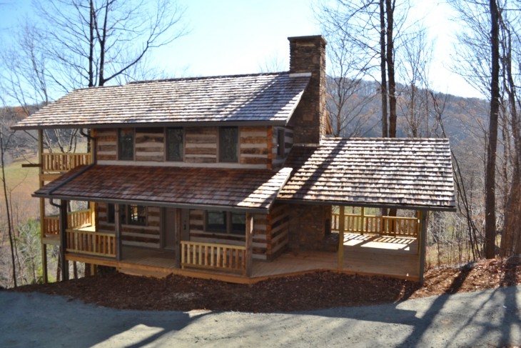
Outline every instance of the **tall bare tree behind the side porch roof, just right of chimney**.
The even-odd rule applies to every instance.
[[[410,8],[408,1],[399,5],[395,0],[336,0],[319,4],[315,11],[325,27],[334,29],[328,41],[348,49],[347,56],[340,50],[338,58],[346,67],[355,63],[353,71],[358,72],[350,74],[380,81],[382,136],[396,136],[395,51],[401,47]]]

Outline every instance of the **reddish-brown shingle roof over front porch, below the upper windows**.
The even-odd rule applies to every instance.
[[[69,171],[34,197],[267,213],[291,171],[95,165],[81,172],[84,168]]]

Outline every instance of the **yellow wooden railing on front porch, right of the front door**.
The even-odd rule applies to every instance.
[[[246,247],[182,241],[181,267],[200,267],[244,274]]]

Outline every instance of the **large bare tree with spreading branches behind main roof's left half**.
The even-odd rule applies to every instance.
[[[142,63],[152,49],[186,34],[184,10],[171,0],[49,0],[43,19],[48,69],[64,91],[104,86]]]

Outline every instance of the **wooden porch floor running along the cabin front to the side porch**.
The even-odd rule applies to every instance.
[[[345,234],[343,248],[343,269],[338,268],[338,252],[288,251],[272,262],[253,260],[250,278],[238,274],[178,269],[174,266],[173,252],[139,247],[123,247],[121,261],[79,254],[68,254],[67,259],[116,267],[120,272],[128,274],[154,277],[181,274],[238,283],[254,283],[317,270],[419,279],[418,240],[415,238]]]

